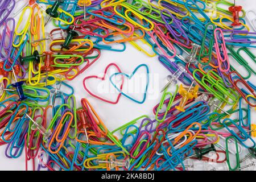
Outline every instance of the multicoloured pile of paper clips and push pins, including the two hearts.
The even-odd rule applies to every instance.
[[[228,0],[0,1],[6,157],[25,155],[26,170],[255,169],[255,18]],[[46,32],[49,24],[55,28]],[[170,75],[153,118],[141,115],[109,131],[86,98],[76,103],[68,82],[93,67],[102,50],[122,52],[127,43],[158,58]],[[86,86],[89,78],[104,80],[109,67],[117,70],[110,76],[115,101]],[[140,68],[147,82],[137,100],[122,90]],[[109,104],[120,97],[143,104],[148,73],[147,64],[127,75],[110,63],[104,77],[85,77],[84,89]]]

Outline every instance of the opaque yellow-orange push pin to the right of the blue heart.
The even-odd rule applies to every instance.
[[[179,94],[182,96],[179,106],[175,106],[177,110],[180,110],[181,112],[185,112],[184,106],[187,104],[188,100],[191,100],[192,98],[197,98],[197,94],[193,91],[191,92],[191,88],[193,86],[194,81],[192,81],[191,85],[189,86],[188,91],[183,88],[182,85],[180,85],[179,88]],[[198,85],[196,85],[197,89]],[[196,90],[194,89],[194,90]]]

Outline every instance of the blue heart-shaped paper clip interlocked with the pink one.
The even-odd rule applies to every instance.
[[[132,98],[130,96],[128,96],[127,94],[123,93],[119,88],[118,86],[116,86],[113,81],[112,81],[112,77],[113,76],[117,76],[117,75],[123,75],[125,77],[128,77],[129,80],[134,76],[134,74],[137,72],[137,70],[141,67],[145,67],[147,69],[147,85],[146,85],[146,89],[145,89],[145,92],[143,94],[143,100],[142,101],[138,101],[138,100],[135,100],[135,98]],[[134,69],[133,73],[131,73],[131,75],[127,75],[126,73],[114,73],[112,76],[110,76],[109,78],[111,84],[115,87],[115,89],[118,90],[119,93],[121,93],[123,96],[129,98],[130,100],[134,101],[134,102],[137,102],[138,104],[143,104],[144,101],[146,100],[146,96],[147,96],[147,88],[148,88],[148,83],[149,83],[149,69],[148,69],[148,66],[146,64],[141,64],[141,65],[138,65],[137,68]]]

